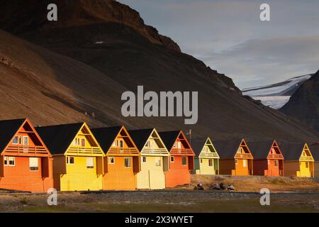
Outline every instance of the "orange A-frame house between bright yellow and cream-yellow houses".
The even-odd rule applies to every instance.
[[[103,190],[135,190],[140,152],[124,126],[95,128],[104,157]]]

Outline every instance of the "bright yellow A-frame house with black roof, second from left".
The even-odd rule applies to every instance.
[[[102,189],[103,150],[86,123],[45,126],[36,130],[52,150],[55,189]]]

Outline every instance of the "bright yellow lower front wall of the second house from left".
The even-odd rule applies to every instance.
[[[67,174],[60,175],[61,191],[96,191],[102,189],[102,175],[96,174],[96,157],[94,168],[86,168],[86,157],[74,157],[74,165],[67,165]]]

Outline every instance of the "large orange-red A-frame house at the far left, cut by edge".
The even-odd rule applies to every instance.
[[[47,192],[52,155],[28,119],[0,121],[0,188]]]

